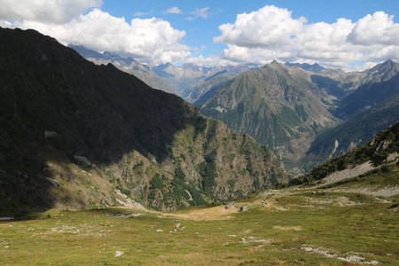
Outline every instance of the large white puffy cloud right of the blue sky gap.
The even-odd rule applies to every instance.
[[[384,59],[399,60],[399,24],[385,12],[352,21],[308,23],[287,9],[267,5],[239,14],[234,23],[219,26],[215,43],[225,43],[223,59],[234,62],[318,62],[353,68]]]

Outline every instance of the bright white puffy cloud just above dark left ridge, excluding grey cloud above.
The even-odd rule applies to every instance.
[[[190,55],[189,47],[182,42],[185,32],[172,27],[168,21],[156,18],[126,21],[97,8],[86,14],[77,14],[64,23],[43,22],[27,16],[23,20],[0,20],[0,26],[34,28],[64,44],[112,51],[143,62],[175,62]]]

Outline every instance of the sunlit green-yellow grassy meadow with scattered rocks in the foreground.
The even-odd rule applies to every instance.
[[[244,212],[51,210],[0,222],[0,264],[398,265],[397,200],[290,188]]]

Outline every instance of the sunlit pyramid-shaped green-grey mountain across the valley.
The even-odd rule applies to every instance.
[[[276,61],[239,74],[200,111],[291,160],[306,152],[303,144],[309,144],[320,129],[335,122],[308,75]]]

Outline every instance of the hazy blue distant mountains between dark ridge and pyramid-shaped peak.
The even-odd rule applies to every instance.
[[[214,84],[220,76],[223,76],[223,81],[226,81],[236,74],[258,67],[255,64],[238,66],[200,66],[192,63],[181,66],[170,63],[141,64],[130,57],[122,57],[108,51],[98,52],[73,44],[69,47],[97,65],[111,63],[124,72],[136,75],[154,89],[174,93],[189,102],[197,101],[207,90],[212,90],[213,85],[208,84]]]

